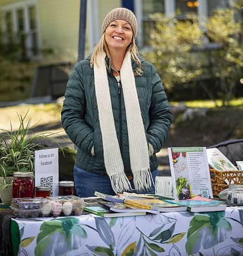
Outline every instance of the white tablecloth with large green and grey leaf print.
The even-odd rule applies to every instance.
[[[243,255],[243,208],[102,218],[12,219],[18,255]],[[19,240],[16,238],[19,238]]]

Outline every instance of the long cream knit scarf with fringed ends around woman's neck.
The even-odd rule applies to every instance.
[[[105,55],[100,65],[94,65],[94,73],[106,172],[111,179],[111,185],[115,192],[130,191],[131,185],[124,172],[123,159],[115,131]],[[134,187],[137,191],[145,191],[151,188],[152,179],[147,140],[137,98],[130,53],[126,53],[123,60],[120,79],[126,108],[129,156]]]

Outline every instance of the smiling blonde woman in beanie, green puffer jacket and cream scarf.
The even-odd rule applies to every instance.
[[[111,10],[92,56],[76,64],[68,81],[62,125],[78,147],[80,197],[154,192],[156,153],[172,115],[156,69],[137,53],[136,36],[134,13]]]

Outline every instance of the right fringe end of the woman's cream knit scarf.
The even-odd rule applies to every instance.
[[[133,174],[133,183],[136,191],[145,192],[149,191],[154,185],[153,177],[150,172],[150,169],[142,169],[132,171]]]

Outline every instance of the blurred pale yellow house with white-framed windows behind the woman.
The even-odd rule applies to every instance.
[[[74,64],[78,59],[80,2],[1,0],[0,24],[5,42],[18,42],[21,45],[22,57],[38,60],[42,65],[51,65],[48,67]],[[87,0],[85,56],[92,53],[93,46],[100,39],[104,16],[116,7],[126,7],[136,14],[139,27],[137,45],[142,49],[149,46],[149,33],[154,25],[150,18],[152,13],[161,12],[166,16],[180,18],[185,18],[186,13],[195,13],[203,21],[212,10],[228,7],[231,2],[232,0]],[[52,72],[46,70],[46,74]],[[60,72],[57,76],[60,78]],[[63,79],[66,78],[67,76]],[[52,77],[48,79],[55,80]],[[63,91],[59,94],[62,93]]]

